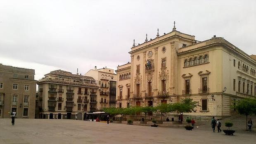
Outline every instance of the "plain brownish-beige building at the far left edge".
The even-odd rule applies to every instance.
[[[35,118],[35,70],[0,64],[0,118],[10,118],[16,110],[17,118]]]

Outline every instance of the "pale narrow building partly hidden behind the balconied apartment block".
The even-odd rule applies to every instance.
[[[100,110],[116,106],[116,73],[111,68],[90,69],[85,76],[91,76],[98,81],[100,87]]]

